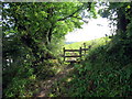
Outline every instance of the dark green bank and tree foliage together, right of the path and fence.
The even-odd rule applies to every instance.
[[[113,13],[114,19],[110,16]],[[117,21],[116,35],[74,65],[70,81],[61,88],[58,96],[132,97],[132,2],[110,3],[101,14]]]

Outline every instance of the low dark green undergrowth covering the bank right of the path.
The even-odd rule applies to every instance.
[[[109,44],[92,48],[74,73],[62,79],[53,97],[130,97],[132,62],[130,57],[111,53]],[[69,79],[67,81],[67,79]]]

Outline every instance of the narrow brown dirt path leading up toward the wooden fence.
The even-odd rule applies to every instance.
[[[35,98],[37,98],[37,97],[48,97],[47,95],[50,94],[52,86],[56,81],[59,81],[62,78],[66,77],[69,74],[69,72],[72,72],[73,69],[74,69],[73,66],[67,66],[67,67],[64,68],[63,72],[58,73],[54,77],[51,77],[48,80],[45,80],[45,81],[41,82],[40,91],[38,91],[38,94],[35,95]]]

